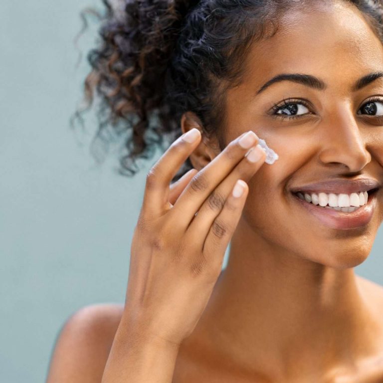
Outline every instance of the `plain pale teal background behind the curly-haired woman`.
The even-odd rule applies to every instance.
[[[101,1],[3,0],[0,12],[0,381],[43,382],[56,336],[79,308],[123,303],[145,176],[97,165],[96,127],[69,128],[97,24],[79,40],[80,10]],[[383,284],[383,235],[358,274]],[[227,251],[225,262],[227,261]]]

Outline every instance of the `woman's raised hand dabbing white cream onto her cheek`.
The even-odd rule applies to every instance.
[[[246,136],[246,147],[239,144],[246,132],[199,172],[192,169],[170,186],[200,141],[193,130],[194,142],[183,139],[192,131],[181,136],[147,175],[123,315],[143,336],[174,345],[192,333],[207,305],[247,197],[245,181],[266,159],[262,148],[254,148],[255,133]],[[260,158],[250,162],[256,153]],[[241,187],[235,197],[233,188]]]

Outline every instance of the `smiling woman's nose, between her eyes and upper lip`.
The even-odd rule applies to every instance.
[[[371,161],[365,135],[348,107],[333,111],[323,124],[322,151],[319,156],[323,164],[342,164],[350,172],[359,172]]]

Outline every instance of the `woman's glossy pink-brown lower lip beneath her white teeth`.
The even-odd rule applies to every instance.
[[[373,217],[377,203],[377,192],[374,192],[369,195],[367,204],[352,213],[346,213],[334,209],[327,209],[320,205],[314,205],[299,198],[296,194],[293,194],[293,196],[322,223],[334,229],[354,229],[367,225]]]

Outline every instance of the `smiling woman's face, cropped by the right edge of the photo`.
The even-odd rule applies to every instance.
[[[277,33],[255,42],[246,60],[242,84],[227,93],[226,143],[253,130],[279,159],[248,183],[242,219],[255,238],[284,253],[336,268],[360,264],[383,219],[382,189],[369,222],[347,229],[347,217],[340,222],[318,209],[341,212],[318,206],[314,214],[291,190],[360,178],[383,183],[383,75],[353,89],[383,72],[382,42],[354,7],[322,3],[285,14]],[[325,86],[283,80],[259,92],[282,73],[315,76]],[[281,107],[273,110],[275,104]]]

